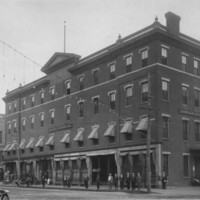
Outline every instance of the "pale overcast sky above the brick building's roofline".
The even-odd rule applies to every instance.
[[[2,98],[42,76],[40,69],[65,49],[84,58],[154,22],[181,17],[180,31],[200,40],[199,0],[0,0],[0,113]]]

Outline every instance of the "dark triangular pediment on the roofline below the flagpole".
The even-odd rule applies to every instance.
[[[80,56],[72,53],[54,53],[54,55],[47,61],[47,63],[42,67],[41,71],[48,73],[50,71],[55,71],[63,63],[72,63],[80,59]]]

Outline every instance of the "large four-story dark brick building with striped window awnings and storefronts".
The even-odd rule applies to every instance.
[[[43,78],[6,93],[10,177],[19,162],[21,177],[45,173],[54,184],[145,177],[147,108],[152,184],[162,171],[170,185],[200,175],[200,41],[180,32],[179,16],[165,17],[85,58],[55,53]]]

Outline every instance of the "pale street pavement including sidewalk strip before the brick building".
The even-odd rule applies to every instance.
[[[108,191],[107,187],[96,191],[95,187],[86,191],[83,187],[74,187],[70,190],[61,188],[16,187],[1,185],[1,188],[10,191],[10,199],[14,200],[129,200],[129,199],[200,199],[200,187],[172,187],[166,190],[152,189],[150,194],[143,190],[139,192]]]

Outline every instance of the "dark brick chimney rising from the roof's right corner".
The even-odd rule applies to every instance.
[[[180,32],[181,18],[172,12],[167,12],[165,18],[168,31],[173,35],[178,35]]]

